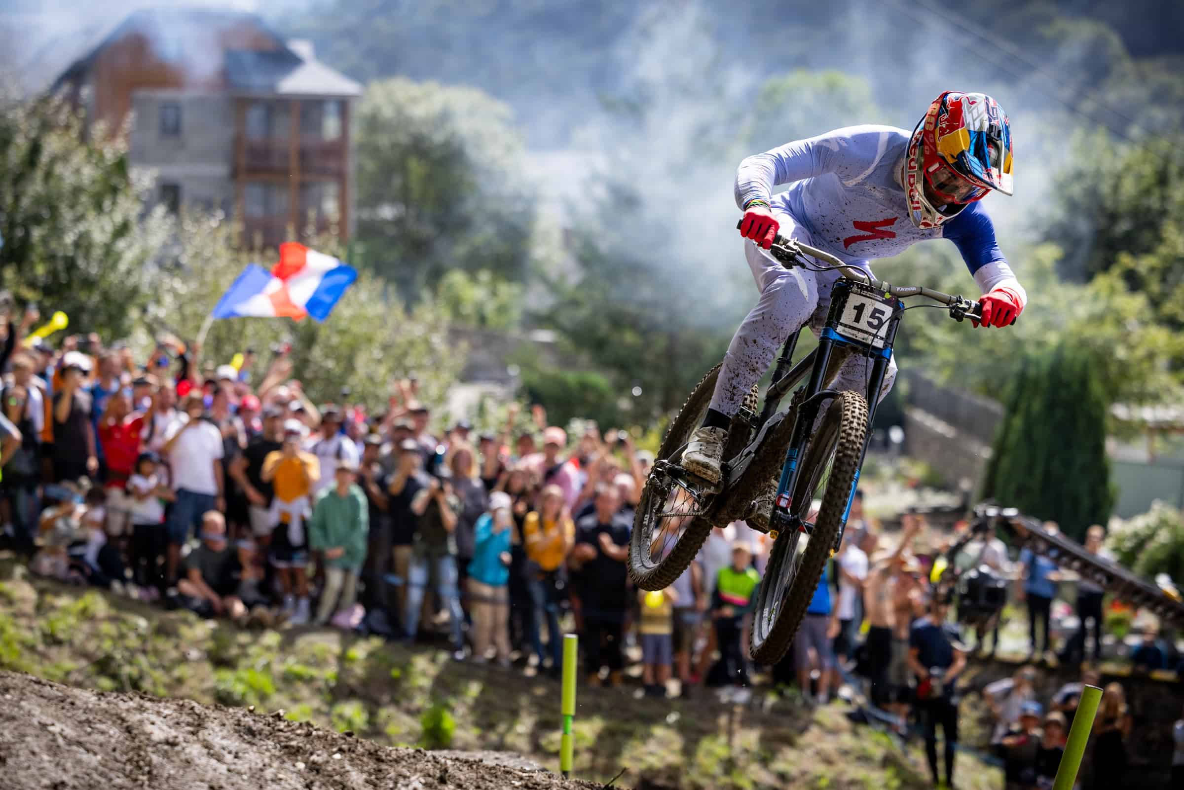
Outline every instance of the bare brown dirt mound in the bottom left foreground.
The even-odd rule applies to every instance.
[[[577,790],[498,753],[390,749],[276,713],[0,672],[0,790]]]

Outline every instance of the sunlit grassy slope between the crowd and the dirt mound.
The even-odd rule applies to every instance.
[[[408,651],[330,630],[252,632],[162,612],[95,591],[0,583],[0,668],[76,686],[133,689],[201,702],[283,708],[387,744],[519,752],[554,767],[559,687],[443,654]],[[577,773],[658,790],[928,786],[918,751],[854,727],[843,708],[790,701],[762,711],[707,700],[631,699],[579,691]],[[995,788],[998,773],[959,757],[959,788]]]

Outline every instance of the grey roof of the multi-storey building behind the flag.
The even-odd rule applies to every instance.
[[[262,17],[240,11],[210,8],[146,8],[99,30],[91,30],[82,54],[70,63],[54,81],[58,86],[66,79],[85,72],[98,54],[129,33],[149,38],[186,41],[188,49],[200,46],[202,31],[213,26],[250,24],[270,37],[274,51],[227,50],[217,64],[225,66],[232,90],[283,95],[358,96],[361,85],[316,60],[311,45],[285,41]]]

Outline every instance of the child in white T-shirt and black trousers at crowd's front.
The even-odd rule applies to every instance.
[[[141,452],[127,487],[131,574],[146,600],[156,600],[165,592],[163,560],[168,548],[165,502],[176,499],[159,468],[160,457],[155,452]]]

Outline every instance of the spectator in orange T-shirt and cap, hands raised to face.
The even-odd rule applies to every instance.
[[[296,419],[284,423],[284,441],[279,450],[263,460],[263,482],[271,483],[275,497],[271,500],[270,519],[275,526],[271,533],[271,564],[279,573],[284,591],[283,614],[294,625],[309,621],[308,541],[304,537],[304,520],[309,515],[309,495],[313,483],[321,477],[321,465],[316,456],[300,449],[304,438],[304,425]],[[297,598],[298,596],[298,598]]]

